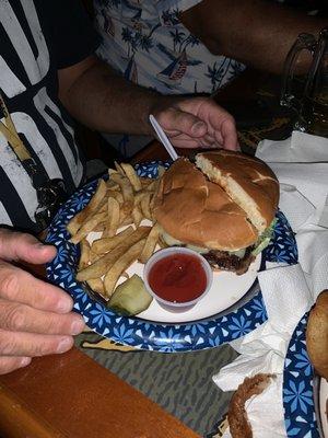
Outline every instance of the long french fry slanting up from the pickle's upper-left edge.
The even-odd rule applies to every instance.
[[[107,274],[104,278],[105,286],[105,297],[110,298],[114,290],[115,285],[117,284],[121,274],[128,269],[128,267],[139,257],[142,247],[144,245],[145,239],[140,240],[129,247],[108,269]]]

